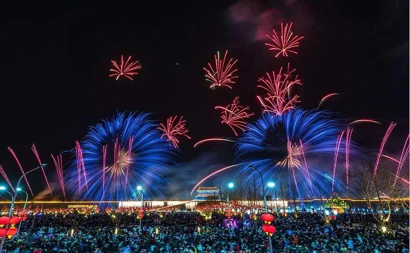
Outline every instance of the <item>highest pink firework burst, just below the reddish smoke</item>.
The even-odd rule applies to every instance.
[[[291,32],[291,28],[292,23],[286,24],[284,27],[283,23],[281,23],[280,36],[276,33],[275,30],[273,30],[272,37],[270,37],[268,34],[266,35],[269,39],[272,40],[272,44],[265,43],[265,45],[271,47],[269,50],[279,51],[275,55],[275,57],[278,57],[279,54],[282,54],[282,56],[287,57],[288,52],[297,54],[297,52],[294,51],[293,48],[299,47],[299,40],[301,40],[303,36],[299,37],[298,35],[293,35],[293,32]]]

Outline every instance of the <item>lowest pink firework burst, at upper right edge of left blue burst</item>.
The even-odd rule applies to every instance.
[[[161,127],[158,129],[163,132],[162,137],[167,137],[169,141],[172,142],[174,147],[178,147],[179,140],[177,139],[178,135],[183,135],[188,139],[191,137],[188,136],[188,129],[186,127],[186,121],[182,119],[182,116],[177,120],[178,116],[170,117],[167,119],[167,125],[160,123]]]

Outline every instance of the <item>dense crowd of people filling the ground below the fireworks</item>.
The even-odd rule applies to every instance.
[[[37,214],[18,236],[6,239],[4,252],[269,252],[261,221],[236,214],[198,212],[118,212]],[[273,252],[408,252],[409,216],[394,214],[383,231],[372,215],[342,214],[331,223],[317,213],[279,215],[273,225]],[[225,223],[226,224],[226,223]]]

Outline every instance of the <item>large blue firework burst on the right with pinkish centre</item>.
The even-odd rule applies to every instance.
[[[248,127],[235,146],[236,159],[243,163],[238,173],[253,176],[247,165],[252,164],[265,180],[286,179],[290,188],[296,186],[299,198],[331,192],[332,159],[325,157],[335,154],[344,127],[341,120],[325,111],[295,109],[276,116],[264,113]],[[339,156],[343,153],[341,144]],[[355,153],[354,145],[351,153]]]

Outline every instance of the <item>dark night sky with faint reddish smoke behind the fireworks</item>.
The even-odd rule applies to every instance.
[[[343,93],[324,108],[348,120],[383,123],[358,128],[355,141],[363,149],[378,149],[390,121],[398,126],[386,152],[401,149],[409,120],[408,1],[214,2],[18,2],[4,8],[0,164],[9,177],[20,174],[8,146],[27,171],[37,165],[30,150],[35,143],[56,182],[50,154],[72,149],[101,119],[117,111],[152,112],[157,120],[183,115],[192,140],[181,141],[168,196],[187,198],[200,178],[234,160],[230,144],[192,147],[202,138],[234,136],[214,107],[239,95],[260,115],[257,79],[288,61],[302,78],[296,90],[301,107],[313,109],[324,95]],[[264,34],[280,22],[293,22],[293,32],[305,36],[299,54],[275,58],[264,45]],[[204,80],[202,68],[218,50],[238,59],[233,90],[210,90]],[[121,54],[142,65],[133,81],[108,77],[110,60]],[[29,181],[34,192],[44,189],[40,172]]]

